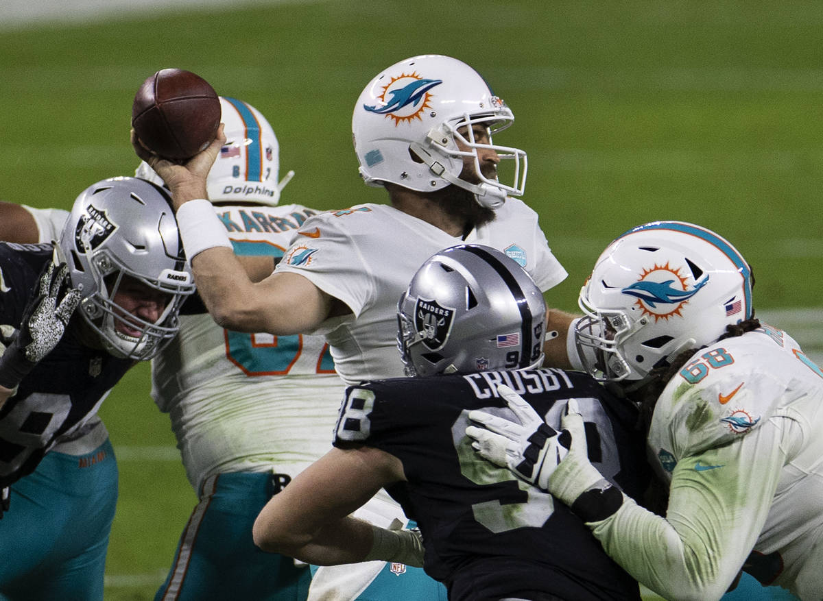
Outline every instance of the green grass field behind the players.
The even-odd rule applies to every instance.
[[[575,309],[625,229],[689,220],[749,259],[763,312],[807,307],[792,333],[821,349],[821,47],[813,0],[226,2],[0,28],[0,198],[68,208],[88,184],[133,173],[134,92],[181,67],[267,115],[282,171],[296,172],[286,201],[384,201],[357,175],[351,109],[381,68],[445,53],[514,110],[497,140],[528,150],[526,200],[570,272],[550,303]],[[101,411],[121,476],[107,599],[153,597],[195,502],[148,381],[137,368]]]

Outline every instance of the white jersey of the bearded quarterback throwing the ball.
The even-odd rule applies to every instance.
[[[353,314],[332,317],[316,331],[327,335],[346,383],[399,377],[398,300],[435,252],[463,243],[485,244],[518,261],[544,292],[565,279],[537,213],[509,198],[495,215],[491,224],[463,239],[392,206],[330,211],[306,222],[277,270],[304,275],[351,308]]]

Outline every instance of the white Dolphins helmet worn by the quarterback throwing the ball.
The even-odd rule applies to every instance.
[[[509,107],[472,67],[456,58],[426,54],[388,67],[365,86],[351,132],[365,183],[391,182],[417,192],[454,184],[472,192],[481,206],[496,209],[506,195],[522,196],[526,186],[526,153],[491,143],[492,135],[513,122]],[[488,128],[489,144],[475,141],[475,123]],[[455,140],[469,150],[459,150]],[[501,167],[511,172],[513,181],[484,177],[478,148],[492,148],[501,162],[512,161]],[[474,158],[481,183],[460,179],[465,156]]]

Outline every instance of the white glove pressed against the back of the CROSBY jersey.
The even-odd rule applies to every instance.
[[[549,477],[568,452],[560,444],[560,432],[551,428],[532,405],[509,386],[501,384],[497,392],[520,423],[485,411],[470,411],[468,418],[483,426],[466,428],[467,436],[474,440],[472,448],[493,464],[510,469],[525,482],[548,490]]]

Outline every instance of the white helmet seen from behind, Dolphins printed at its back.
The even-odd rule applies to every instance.
[[[206,188],[212,201],[244,201],[276,206],[280,192],[295,172],[277,181],[280,146],[272,126],[258,109],[242,100],[220,97],[226,145],[208,173]],[[142,161],[135,175],[164,185],[154,169]]]

